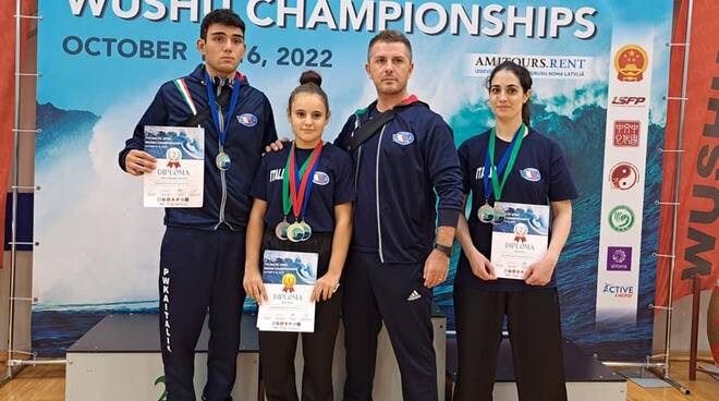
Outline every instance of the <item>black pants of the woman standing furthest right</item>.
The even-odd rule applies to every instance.
[[[483,291],[454,287],[458,382],[454,401],[491,401],[507,315],[521,401],[565,401],[557,289]]]

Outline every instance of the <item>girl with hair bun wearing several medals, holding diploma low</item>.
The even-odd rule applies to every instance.
[[[315,330],[302,335],[305,361],[302,400],[331,401],[332,359],[341,307],[339,282],[352,234],[352,159],[344,150],[322,143],[322,131],[330,112],[327,95],[320,88],[319,74],[307,71],[302,74],[300,83],[290,95],[288,106],[295,141],[292,146],[263,158],[251,192],[255,200],[247,227],[244,288],[258,303],[267,301],[260,274],[260,250],[319,254],[318,278],[312,295],[317,302]],[[288,191],[283,194],[282,186],[290,171],[300,170],[305,161],[308,161],[305,173],[312,186],[306,193],[309,196],[306,211],[298,220],[312,227],[312,234],[305,241],[294,242],[301,238],[292,238],[292,229],[288,230],[287,224],[278,229],[278,224],[281,227],[284,221],[295,221],[294,209],[285,216],[283,196],[287,198]],[[288,171],[285,166],[291,162],[295,165]],[[313,163],[316,163],[314,170]],[[295,183],[290,181],[285,185]],[[259,332],[260,369],[270,401],[297,400],[296,343],[296,332]]]

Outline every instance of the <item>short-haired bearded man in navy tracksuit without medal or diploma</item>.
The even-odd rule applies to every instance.
[[[386,31],[375,36],[366,70],[377,100],[350,117],[336,141],[354,157],[357,193],[343,279],[345,401],[371,400],[382,320],[399,362],[404,400],[437,400],[431,289],[447,279],[462,172],[450,127],[409,96],[413,68],[404,35]],[[358,127],[391,109],[391,121],[362,145],[351,146]]]

